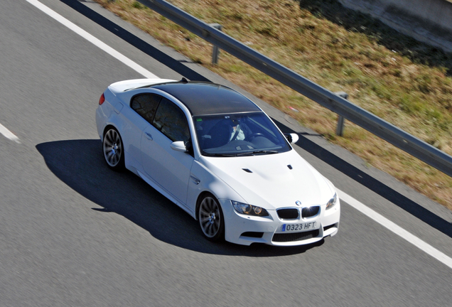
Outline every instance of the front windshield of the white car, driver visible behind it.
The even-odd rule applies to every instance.
[[[289,151],[286,138],[263,112],[193,117],[203,156],[247,156]]]

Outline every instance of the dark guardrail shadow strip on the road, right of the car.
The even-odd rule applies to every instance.
[[[278,122],[276,119],[273,119],[273,121],[277,126],[279,126],[279,129],[281,129],[283,133],[296,133],[296,131],[290,129],[288,126],[282,124],[281,122]],[[335,154],[332,154],[330,151],[319,146],[315,142],[308,139],[306,136],[303,136],[303,134],[298,133],[298,136],[299,139],[296,142],[296,145],[300,146],[301,149],[308,151],[308,153],[316,156],[330,166],[333,166],[333,168],[337,169],[341,173],[344,173],[346,176],[352,178],[357,183],[364,185],[366,188],[382,196],[382,198],[386,198],[391,203],[399,206],[399,208],[402,208],[406,212],[409,212],[411,215],[414,215],[419,220],[425,222],[436,230],[443,232],[444,235],[452,237],[451,223],[444,220],[442,217],[439,217],[438,215],[427,210],[418,203],[415,203],[413,200],[410,200],[406,196],[390,188],[388,185],[385,185],[381,181],[378,181],[367,173],[361,171],[359,168],[356,168],[342,158],[336,156]]]

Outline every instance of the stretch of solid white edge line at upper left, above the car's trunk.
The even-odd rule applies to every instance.
[[[119,53],[117,50],[114,50],[112,47],[110,47],[106,43],[99,41],[99,39],[95,38],[90,33],[87,33],[87,31],[83,30],[79,26],[76,26],[74,23],[68,21],[68,19],[64,18],[57,12],[53,11],[52,9],[49,9],[48,6],[41,4],[41,2],[39,2],[37,0],[26,0],[26,1],[28,1],[30,4],[33,4],[33,6],[36,6],[38,9],[43,11],[45,14],[48,14],[48,16],[54,18],[56,21],[62,23],[64,26],[67,26],[72,31],[74,31],[78,35],[82,36],[82,38],[85,38],[90,43],[93,43],[100,49],[104,50],[109,55],[112,55],[112,57],[116,58],[117,60],[121,61],[125,65],[129,66],[129,68],[132,68],[136,72],[139,72],[141,75],[144,75],[144,77],[158,78],[152,72],[150,72],[149,70],[146,70],[146,68],[143,68],[141,65],[138,65],[133,60],[127,58],[125,55],[122,55],[122,53]]]

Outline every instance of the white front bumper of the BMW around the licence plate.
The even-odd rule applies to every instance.
[[[321,212],[315,217],[296,220],[281,220],[276,210],[267,210],[269,216],[256,217],[237,213],[230,200],[220,200],[225,215],[225,239],[235,244],[249,245],[264,243],[279,246],[296,246],[318,242],[324,237],[338,232],[340,220],[340,200],[330,210],[321,206]],[[315,227],[299,232],[282,231],[283,225],[306,225],[316,223]]]

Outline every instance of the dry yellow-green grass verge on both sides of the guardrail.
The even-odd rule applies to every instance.
[[[452,209],[452,178],[346,122],[134,0],[95,0],[200,65]],[[337,0],[171,0],[332,92],[452,155],[452,54],[392,30]]]

